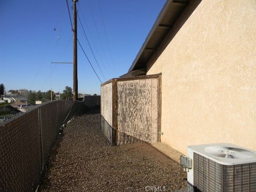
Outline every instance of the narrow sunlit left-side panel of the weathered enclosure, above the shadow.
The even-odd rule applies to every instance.
[[[101,115],[112,126],[112,83],[101,86]]]

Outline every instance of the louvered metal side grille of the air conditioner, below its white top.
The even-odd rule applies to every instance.
[[[227,157],[230,158],[230,157]],[[221,165],[194,153],[195,191],[256,191],[256,163]],[[195,190],[196,189],[196,190]]]

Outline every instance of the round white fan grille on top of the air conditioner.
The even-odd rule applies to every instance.
[[[254,155],[249,150],[227,146],[210,146],[204,148],[204,151],[211,156],[234,159],[246,159]]]

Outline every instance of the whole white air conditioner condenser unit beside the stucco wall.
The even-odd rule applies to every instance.
[[[256,192],[256,151],[214,143],[187,147],[181,156],[188,192]]]

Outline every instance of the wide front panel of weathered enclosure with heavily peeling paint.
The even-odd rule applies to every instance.
[[[157,142],[159,78],[117,81],[118,141]]]

